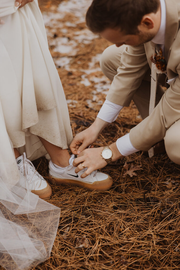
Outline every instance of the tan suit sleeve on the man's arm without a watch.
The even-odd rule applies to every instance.
[[[126,46],[106,99],[121,106],[129,106],[148,68],[144,45]]]

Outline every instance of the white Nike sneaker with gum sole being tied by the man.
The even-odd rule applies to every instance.
[[[73,166],[75,156],[72,155],[69,159],[69,166],[61,168],[52,161],[49,161],[49,176],[51,177],[50,183],[53,185],[74,185],[86,188],[88,190],[108,190],[112,184],[112,178],[105,173],[93,171],[85,178],[81,178],[81,174],[87,170],[84,168],[78,174],[75,173],[76,167]]]

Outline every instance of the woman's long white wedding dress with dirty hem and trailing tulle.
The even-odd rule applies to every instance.
[[[13,147],[33,160],[46,154],[37,135],[63,149],[72,141],[38,1],[21,9],[14,4],[0,0],[0,264],[7,270],[48,258],[60,215],[23,188]]]

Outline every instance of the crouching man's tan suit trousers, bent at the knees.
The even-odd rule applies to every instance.
[[[101,59],[100,67],[104,75],[106,75],[111,81],[113,81],[114,76],[117,75],[117,69],[120,66],[121,54],[126,45],[121,47],[116,47],[116,45],[111,45],[104,50]],[[149,115],[149,104],[150,104],[150,92],[151,92],[151,70],[149,69],[142,80],[140,87],[136,90],[133,101],[142,117],[145,119]],[[159,103],[164,90],[161,85],[165,83],[164,75],[159,76],[159,85],[157,88],[156,103]],[[121,89],[120,89],[121,91]],[[180,133],[180,120],[175,122],[166,132],[164,137],[165,148],[169,158],[177,164],[180,164],[180,138],[178,134]],[[178,150],[178,151],[177,151]]]

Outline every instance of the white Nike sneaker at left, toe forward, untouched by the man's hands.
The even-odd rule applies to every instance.
[[[46,180],[36,171],[32,162],[26,158],[26,153],[16,158],[19,173],[27,180],[25,187],[32,193],[38,195],[41,199],[47,199],[51,196],[52,190]]]

